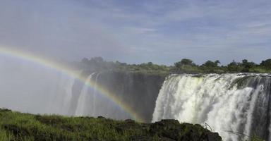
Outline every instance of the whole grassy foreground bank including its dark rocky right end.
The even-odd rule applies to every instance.
[[[40,116],[0,109],[0,140],[221,140],[200,125]]]

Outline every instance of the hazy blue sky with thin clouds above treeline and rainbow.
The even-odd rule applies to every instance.
[[[0,44],[68,60],[258,63],[271,58],[271,1],[1,0]]]

